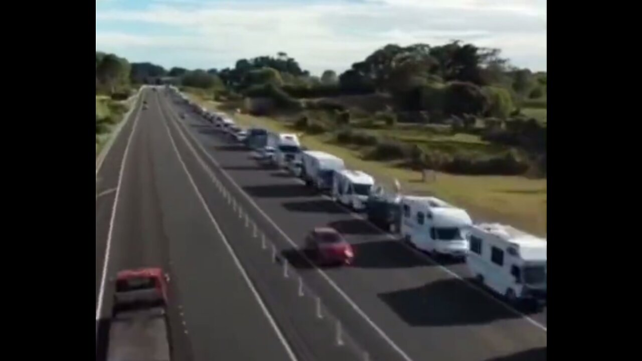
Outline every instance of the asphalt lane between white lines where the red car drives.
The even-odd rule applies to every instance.
[[[356,267],[328,273],[413,359],[484,360],[546,347],[545,331],[291,179],[261,170],[202,119],[190,116],[185,123],[291,240],[300,243],[311,227],[323,224],[347,235],[356,247]],[[453,348],[453,342],[465,347]]]

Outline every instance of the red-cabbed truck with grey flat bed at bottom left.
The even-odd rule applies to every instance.
[[[167,305],[161,269],[118,272],[106,359],[171,361]]]

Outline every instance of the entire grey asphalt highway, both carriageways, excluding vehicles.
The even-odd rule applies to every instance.
[[[281,263],[245,227],[229,193],[297,268],[291,277],[302,277],[370,359],[546,359],[546,313],[525,319],[458,279],[467,277],[463,265],[441,267],[297,180],[263,169],[196,114],[178,118],[185,108],[164,91],[146,89],[143,98],[149,109],[132,112],[96,175],[102,318],[111,294],[103,279],[160,265],[171,276],[178,360],[362,360],[336,346],[333,327],[315,319],[294,281],[284,281]],[[304,234],[319,225],[354,245],[353,267],[320,270],[297,256]]]

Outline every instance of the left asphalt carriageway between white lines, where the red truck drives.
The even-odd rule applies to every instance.
[[[289,360],[178,161],[157,97],[145,95],[150,108],[141,113],[123,169],[108,279],[137,267],[169,272],[177,360]],[[96,222],[104,227],[98,215]],[[103,317],[112,294],[107,283]]]

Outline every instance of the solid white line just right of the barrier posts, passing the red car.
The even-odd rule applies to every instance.
[[[175,112],[173,112],[173,110],[170,109],[170,111],[173,113],[173,115],[175,115]],[[176,121],[175,120],[175,121],[171,121],[171,123],[177,123],[177,124],[181,125],[182,127],[185,127],[185,125],[181,121]],[[177,127],[177,129],[180,128],[177,125],[175,125],[175,127]],[[236,189],[238,189],[238,191],[241,193],[241,195],[243,195],[243,197],[245,197],[248,200],[248,202],[250,202],[250,204],[252,204],[252,206],[254,206],[254,208],[256,208],[257,211],[259,211],[259,213],[261,213],[261,215],[263,215],[263,217],[268,222],[270,222],[270,224],[272,224],[273,227],[275,227],[275,229],[277,229],[277,231],[279,233],[281,233],[281,235],[284,237],[284,239],[287,240],[288,243],[290,243],[290,245],[292,247],[294,247],[295,250],[297,250],[297,252],[301,255],[301,257],[304,258],[305,260],[308,260],[308,261],[311,262],[311,260],[309,260],[309,258],[305,254],[303,254],[302,252],[299,251],[299,246],[297,246],[297,243],[293,242],[293,240],[291,240],[291,238],[281,229],[281,227],[279,227],[279,225],[275,224],[275,222],[272,220],[272,218],[270,218],[268,215],[266,215],[266,213],[263,211],[263,209],[261,209],[261,207],[259,207],[256,204],[256,202],[254,202],[254,200],[252,198],[250,198],[250,196],[248,196],[247,193],[245,193],[245,191],[243,191],[243,189],[241,189],[241,187],[238,184],[236,184],[236,182],[234,182],[232,177],[230,177],[227,174],[227,172],[225,172],[223,170],[223,168],[221,168],[220,164],[218,164],[218,162],[215,159],[213,159],[213,157],[211,157],[211,155],[209,155],[207,153],[207,151],[205,151],[205,149],[200,144],[200,142],[198,140],[196,140],[196,138],[189,132],[189,130],[186,129],[185,132],[187,132],[187,134],[189,134],[189,136],[192,139],[194,139],[196,145],[205,153],[205,155],[214,164],[216,164],[216,166],[220,169],[220,171],[223,174],[223,176],[225,176],[232,183],[232,185]],[[187,138],[185,137],[185,135],[183,134],[183,132],[180,129],[178,129],[178,134],[180,134],[180,136],[183,138],[183,140],[185,141],[185,143],[187,144],[187,146],[189,147],[191,152],[195,155],[196,159],[198,160],[198,163],[200,163],[201,166],[205,169],[205,172],[209,173],[211,175],[211,177],[216,178],[212,174],[212,172],[209,169],[209,167],[207,166],[207,164],[205,164],[203,162],[203,160],[201,159],[201,157],[198,154],[196,154],[196,150],[193,148],[191,143],[189,143],[189,141],[187,140]],[[314,263],[311,263],[311,264],[314,264]],[[354,310],[356,313],[358,313],[358,315],[360,315],[370,325],[370,327],[372,327],[379,334],[379,336],[388,343],[388,345],[392,349],[394,349],[404,360],[413,361],[412,358],[410,358],[403,351],[403,349],[401,349],[399,346],[397,346],[397,344],[395,344],[395,342],[392,339],[390,339],[390,337],[388,337],[388,335],[386,335],[386,333],[383,330],[381,330],[381,328],[379,328],[379,326],[377,326],[377,324],[374,323],[374,321],[372,321],[372,319],[370,319],[370,317],[368,317],[368,315],[365,312],[363,312],[363,310],[361,310],[361,308],[356,303],[354,303],[354,301],[352,301],[352,299],[345,292],[343,292],[343,290],[341,288],[339,288],[338,285],[336,285],[336,283],[334,283],[333,279],[331,279],[329,276],[327,276],[327,274],[324,271],[322,271],[322,270],[320,270],[318,268],[315,268],[315,271],[318,272],[318,274],[320,274],[320,276],[323,277],[325,279],[325,281],[327,283],[329,283],[329,285],[332,286],[334,288],[334,290],[338,294],[341,295],[341,297],[343,297],[343,299],[352,307],[352,310]]]

